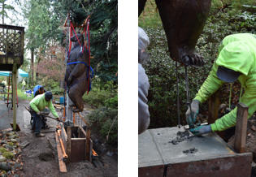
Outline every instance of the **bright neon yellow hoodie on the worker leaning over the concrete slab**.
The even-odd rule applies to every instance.
[[[210,75],[194,98],[195,100],[201,103],[206,101],[223,84],[223,81],[219,80],[216,75],[218,66],[241,72],[238,80],[245,93],[240,101],[249,107],[248,118],[250,118],[256,110],[256,38],[254,35],[238,33],[223,39],[219,46],[219,56],[210,71]],[[210,125],[212,131],[223,131],[228,127],[235,126],[236,111],[237,107],[212,123]]]

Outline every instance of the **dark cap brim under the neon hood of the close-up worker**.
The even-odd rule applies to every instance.
[[[241,75],[241,72],[233,71],[228,69],[227,67],[218,67],[217,76],[219,80],[223,80],[224,82],[232,83],[237,80],[237,78]]]

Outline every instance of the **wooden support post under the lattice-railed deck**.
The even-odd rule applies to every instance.
[[[13,108],[13,131],[16,131],[16,87],[17,87],[17,64],[12,67],[12,108]]]

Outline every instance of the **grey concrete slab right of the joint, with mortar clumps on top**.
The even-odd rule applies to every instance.
[[[216,158],[227,154],[234,154],[226,143],[214,133],[199,137],[193,136],[193,134],[189,132],[190,136],[193,136],[192,139],[184,140],[178,145],[173,145],[171,140],[176,138],[176,133],[179,131],[184,132],[184,129],[170,127],[149,130],[155,144],[158,146],[159,152],[163,156],[164,164],[190,162],[203,158]],[[193,148],[197,149],[196,153],[183,153],[184,150]]]

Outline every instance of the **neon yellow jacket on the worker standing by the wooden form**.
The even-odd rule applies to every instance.
[[[59,115],[54,109],[53,103],[51,101],[46,101],[45,94],[46,93],[43,93],[43,94],[37,95],[37,97],[34,97],[33,100],[29,102],[29,105],[37,113],[39,113],[41,110],[45,110],[47,106],[51,111],[51,113],[54,115],[54,117],[59,118]]]

